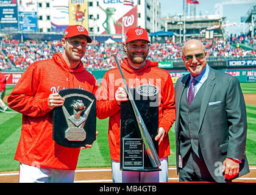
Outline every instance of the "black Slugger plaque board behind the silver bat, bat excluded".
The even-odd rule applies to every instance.
[[[146,84],[129,90],[158,154],[158,141],[155,141],[155,136],[158,133],[158,88]],[[121,102],[120,125],[120,169],[122,171],[160,171],[158,167],[152,167],[145,151],[145,143],[141,139],[130,101]]]

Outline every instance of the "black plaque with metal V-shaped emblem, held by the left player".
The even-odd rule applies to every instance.
[[[65,99],[54,108],[53,140],[60,146],[84,147],[96,140],[96,98],[80,89],[59,91]]]

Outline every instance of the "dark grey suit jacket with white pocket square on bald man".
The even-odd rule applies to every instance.
[[[186,74],[180,77],[175,85],[176,165],[178,165],[180,144],[180,98],[189,79],[190,74]],[[199,121],[199,144],[205,164],[213,179],[216,182],[226,182],[221,170],[222,163],[227,157],[243,159],[240,163],[240,173],[236,177],[249,172],[245,154],[246,105],[240,82],[235,77],[210,68],[208,79],[205,82]],[[177,171],[179,172],[178,166]]]

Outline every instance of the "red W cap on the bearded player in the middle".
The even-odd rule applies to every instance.
[[[149,39],[148,39],[148,32],[146,29],[143,28],[139,28],[139,27],[135,27],[132,29],[129,29],[126,32],[126,43],[129,43],[130,41],[134,41],[134,40],[146,40],[148,41],[148,43],[150,43]]]

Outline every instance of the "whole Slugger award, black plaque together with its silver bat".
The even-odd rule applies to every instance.
[[[120,169],[160,171],[158,141],[154,140],[158,132],[158,88],[146,84],[130,89],[116,54],[113,57],[129,99],[121,102]]]

